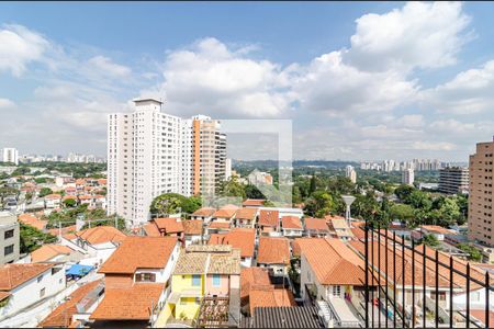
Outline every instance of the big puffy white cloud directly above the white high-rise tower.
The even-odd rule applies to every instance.
[[[246,58],[246,47],[231,49],[215,38],[168,54],[158,92],[168,109],[217,116],[274,117],[290,107],[288,80],[280,66]],[[156,91],[155,91],[156,93]]]

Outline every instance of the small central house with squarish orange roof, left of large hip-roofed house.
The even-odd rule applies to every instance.
[[[287,238],[260,237],[257,252],[257,265],[268,268],[272,275],[288,274],[290,264],[290,241]]]

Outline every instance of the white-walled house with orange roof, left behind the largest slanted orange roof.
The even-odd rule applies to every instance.
[[[97,226],[75,234],[64,235],[60,245],[89,256],[86,262],[99,266],[115,251],[126,235],[113,226]]]

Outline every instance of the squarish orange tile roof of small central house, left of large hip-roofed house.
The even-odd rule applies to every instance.
[[[257,262],[262,264],[289,264],[290,241],[287,238],[260,237]]]

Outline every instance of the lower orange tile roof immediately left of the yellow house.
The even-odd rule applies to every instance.
[[[94,320],[148,320],[158,303],[161,283],[136,283],[130,288],[112,288],[89,317]]]

